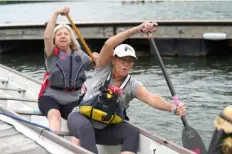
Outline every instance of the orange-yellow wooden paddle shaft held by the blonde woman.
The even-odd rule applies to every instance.
[[[85,40],[83,39],[83,37],[81,36],[81,33],[80,31],[77,29],[76,25],[73,23],[73,20],[71,19],[71,17],[67,14],[66,17],[68,18],[70,24],[72,25],[73,27],[73,30],[76,32],[77,36],[79,37],[81,43],[83,44],[86,52],[88,53],[88,55],[91,57],[92,60],[94,60],[94,57],[93,57],[93,54],[92,52],[90,51],[88,45],[86,44]]]

